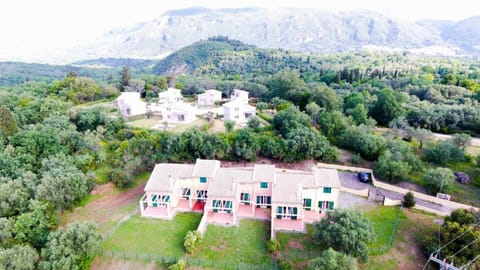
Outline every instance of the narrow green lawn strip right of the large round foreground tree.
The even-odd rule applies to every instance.
[[[399,211],[400,208],[396,206],[379,206],[365,212],[365,216],[372,222],[373,230],[377,235],[375,242],[369,245],[370,254],[382,254],[388,251],[388,242]],[[400,214],[400,218],[404,219],[406,216]]]

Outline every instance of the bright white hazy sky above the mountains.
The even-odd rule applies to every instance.
[[[28,59],[91,41],[117,27],[190,6],[310,7],[332,11],[368,9],[404,20],[459,20],[480,15],[474,0],[1,0],[0,60]]]

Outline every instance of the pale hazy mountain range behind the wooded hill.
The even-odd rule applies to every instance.
[[[228,36],[263,48],[335,53],[411,51],[480,55],[480,16],[462,21],[406,22],[372,11],[327,12],[304,8],[188,8],[107,32],[72,49],[77,59],[163,58],[198,40]]]

